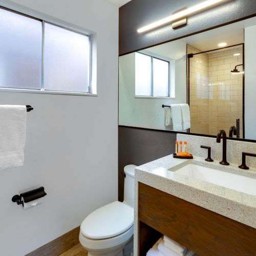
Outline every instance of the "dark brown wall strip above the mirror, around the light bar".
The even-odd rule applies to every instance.
[[[172,29],[166,25],[151,32],[137,29],[202,0],[132,0],[119,8],[119,55],[195,34],[248,16],[255,16],[255,0],[230,0],[223,5],[188,17],[187,25]]]

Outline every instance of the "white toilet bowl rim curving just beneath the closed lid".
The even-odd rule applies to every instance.
[[[119,236],[108,238],[108,239],[102,239],[102,240],[95,240],[95,239],[84,237],[82,232],[80,231],[79,241],[84,248],[87,248],[90,250],[103,250],[103,249],[112,248],[121,244],[125,244],[127,243],[127,241],[129,241],[129,239],[131,239],[132,236],[133,236],[133,226],[131,226],[125,232],[119,234]]]

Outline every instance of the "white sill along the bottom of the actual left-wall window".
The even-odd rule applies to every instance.
[[[80,95],[80,96],[98,96],[98,94],[81,93],[81,92],[64,92],[64,91],[45,91],[33,89],[14,89],[14,88],[0,88],[0,92],[14,92],[14,93],[40,93],[40,94],[59,94],[59,95]]]

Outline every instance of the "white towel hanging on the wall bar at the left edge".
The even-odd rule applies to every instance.
[[[0,105],[0,170],[23,165],[26,119],[26,106]]]

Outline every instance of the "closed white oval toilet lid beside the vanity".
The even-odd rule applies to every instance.
[[[83,236],[90,239],[106,239],[118,236],[132,227],[133,208],[115,201],[93,211],[80,226]]]

